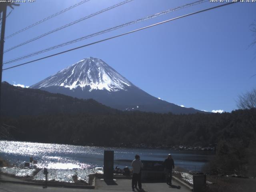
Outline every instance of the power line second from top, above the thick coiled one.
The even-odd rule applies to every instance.
[[[69,26],[71,26],[71,25],[74,25],[74,24],[76,24],[76,23],[78,23],[78,22],[80,22],[80,21],[86,20],[86,19],[91,18],[91,17],[93,17],[93,16],[95,16],[95,15],[98,15],[98,14],[103,13],[103,12],[106,12],[106,11],[108,11],[108,10],[110,10],[110,9],[116,8],[116,7],[118,7],[118,6],[121,6],[121,5],[123,5],[123,4],[126,4],[126,3],[128,3],[128,2],[131,2],[131,1],[133,1],[133,0],[125,0],[125,1],[123,1],[123,2],[120,2],[120,3],[118,3],[118,4],[115,4],[115,5],[113,5],[113,6],[110,6],[110,7],[108,7],[108,8],[105,8],[105,9],[103,9],[103,10],[100,10],[100,11],[98,11],[98,12],[95,12],[95,13],[93,13],[93,14],[90,14],[90,15],[88,15],[88,16],[85,16],[85,17],[83,17],[83,18],[80,18],[80,19],[78,19],[78,20],[76,20],[76,21],[73,21],[73,22],[71,22],[71,23],[68,23],[68,24],[66,24],[66,25],[64,25],[64,26],[61,26],[61,27],[56,28],[56,29],[54,29],[54,30],[51,30],[51,31],[49,31],[49,32],[47,32],[47,33],[44,33],[44,34],[42,34],[42,35],[40,35],[40,36],[37,36],[37,37],[32,38],[32,39],[30,39],[30,40],[27,40],[26,42],[23,42],[23,43],[21,43],[21,44],[18,44],[18,45],[16,45],[16,46],[12,47],[12,48],[9,48],[9,49],[5,50],[4,53],[6,53],[6,52],[8,52],[8,51],[10,51],[10,50],[13,50],[13,49],[15,49],[15,48],[17,48],[17,47],[20,47],[20,46],[22,46],[22,45],[28,44],[28,43],[30,43],[30,42],[32,42],[32,41],[34,41],[34,40],[37,40],[37,39],[39,39],[39,38],[42,38],[42,37],[46,36],[46,35],[52,34],[52,33],[56,32],[56,31],[58,31],[58,30],[62,30],[62,29],[64,29],[64,28],[66,28],[66,27],[69,27]]]

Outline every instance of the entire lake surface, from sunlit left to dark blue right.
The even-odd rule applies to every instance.
[[[114,151],[114,167],[131,168],[136,154],[142,160],[163,161],[167,154],[172,154],[175,166],[187,170],[200,171],[202,166],[212,158],[213,152],[176,151],[168,149],[111,148],[94,146],[74,146],[64,144],[45,144],[18,141],[0,141],[0,156],[11,164],[23,165],[33,157],[40,168],[72,169],[102,167],[104,150]]]

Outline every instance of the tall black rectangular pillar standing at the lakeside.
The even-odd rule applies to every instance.
[[[113,180],[114,151],[104,151],[104,180]]]

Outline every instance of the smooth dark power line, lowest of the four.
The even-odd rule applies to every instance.
[[[197,12],[193,12],[193,13],[190,13],[190,14],[182,15],[182,16],[172,18],[172,19],[169,19],[169,20],[165,20],[165,21],[162,21],[162,22],[159,22],[159,23],[156,23],[156,24],[152,24],[152,25],[149,25],[149,26],[146,26],[146,27],[142,27],[142,28],[130,31],[130,32],[126,32],[126,33],[123,33],[123,34],[120,34],[120,35],[112,36],[110,38],[106,38],[106,39],[99,40],[99,41],[96,41],[96,42],[93,42],[93,43],[89,43],[89,44],[86,44],[86,45],[83,45],[83,46],[79,46],[79,47],[72,48],[72,49],[69,49],[69,50],[66,50],[66,51],[62,51],[62,52],[59,52],[59,53],[56,53],[56,54],[45,56],[45,57],[42,57],[42,58],[39,58],[39,59],[36,59],[36,60],[32,60],[32,61],[25,62],[25,63],[22,63],[22,64],[18,64],[18,65],[12,66],[12,67],[8,67],[8,68],[5,68],[3,70],[8,70],[8,69],[11,69],[11,68],[15,68],[15,67],[18,67],[18,66],[29,64],[29,63],[39,61],[39,60],[42,60],[42,59],[45,59],[45,58],[53,57],[53,56],[56,56],[56,55],[59,55],[59,54],[70,52],[70,51],[73,51],[73,50],[76,50],[76,49],[80,49],[80,48],[83,48],[83,47],[86,47],[86,46],[97,44],[97,43],[100,43],[100,42],[103,42],[103,41],[106,41],[106,40],[110,40],[110,39],[113,39],[113,38],[124,36],[124,35],[130,34],[130,33],[133,33],[133,32],[144,30],[146,28],[150,28],[150,27],[153,27],[153,26],[156,26],[156,25],[164,24],[166,22],[170,22],[170,21],[173,21],[173,20],[176,20],[176,19],[184,18],[184,17],[187,17],[187,16],[191,16],[191,15],[194,15],[194,14],[198,14],[198,13],[205,12],[205,11],[208,11],[208,10],[212,10],[212,9],[215,9],[215,8],[219,8],[219,7],[222,7],[222,6],[230,5],[230,4],[233,4],[233,3],[236,3],[236,2],[230,2],[230,3],[222,4],[222,5],[219,5],[219,6],[214,6],[214,7],[208,8],[208,9],[200,10],[200,11],[197,11]]]

